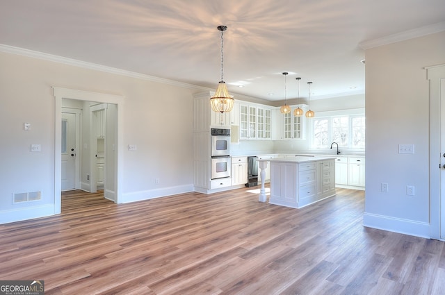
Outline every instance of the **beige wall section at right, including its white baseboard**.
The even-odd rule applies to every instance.
[[[429,86],[423,67],[445,63],[445,32],[366,50],[364,225],[429,236]],[[414,144],[399,154],[398,144]],[[387,183],[388,192],[381,192]],[[406,186],[414,185],[415,196]]]

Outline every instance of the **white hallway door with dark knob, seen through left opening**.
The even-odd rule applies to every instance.
[[[61,189],[75,189],[76,178],[76,115],[62,113]]]

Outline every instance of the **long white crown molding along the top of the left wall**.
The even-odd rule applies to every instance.
[[[55,55],[49,54],[49,53],[33,51],[30,49],[24,49],[24,48],[20,48],[20,47],[13,47],[13,46],[6,45],[6,44],[0,44],[0,52],[17,54],[19,56],[26,56],[29,58],[38,58],[40,60],[47,60],[50,62],[58,62],[58,63],[64,64],[64,65],[81,67],[83,69],[92,69],[95,71],[103,71],[108,74],[115,74],[115,75],[120,75],[120,76],[131,77],[131,78],[138,78],[138,79],[145,80],[145,81],[163,83],[163,84],[168,84],[168,85],[173,85],[173,86],[178,86],[178,87],[184,87],[184,88],[188,88],[188,89],[209,90],[209,88],[207,88],[207,87],[201,87],[201,86],[192,85],[192,84],[188,84],[188,83],[172,81],[172,80],[165,79],[165,78],[149,76],[146,74],[140,74],[140,73],[136,73],[134,71],[127,71],[127,70],[118,69],[115,67],[107,67],[104,65],[97,65],[92,62],[84,62],[82,60],[75,60],[73,58],[65,58],[63,56],[55,56]]]

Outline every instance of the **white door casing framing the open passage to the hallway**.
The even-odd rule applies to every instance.
[[[96,101],[97,103],[108,103],[114,106],[113,110],[115,112],[115,135],[114,142],[110,142],[109,150],[112,151],[109,160],[111,161],[111,165],[114,166],[114,169],[104,170],[105,179],[108,178],[110,185],[106,185],[104,182],[104,196],[106,199],[111,199],[115,203],[119,203],[120,197],[120,182],[122,180],[122,172],[120,171],[120,167],[122,167],[122,149],[119,147],[122,146],[122,114],[123,114],[123,96],[115,96],[112,94],[102,94],[97,92],[85,92],[81,90],[71,90],[67,88],[61,87],[53,87],[54,99],[55,99],[55,143],[54,143],[54,151],[55,151],[55,173],[54,173],[54,214],[60,214],[61,211],[61,191],[62,191],[62,125],[60,122],[62,121],[62,101],[63,99],[72,99],[74,101]],[[90,118],[91,119],[91,118]],[[110,120],[111,121],[111,120]],[[88,149],[88,142],[86,142],[86,146]],[[82,145],[82,150],[86,148],[85,144]],[[107,146],[104,147],[107,149]],[[90,155],[92,155],[92,151],[90,149]],[[94,153],[95,155],[95,153]],[[83,161],[81,161],[83,162]],[[90,162],[90,171],[92,171],[92,167],[96,167],[97,163],[94,161],[94,165]],[[88,179],[88,175],[86,175]],[[81,175],[81,179],[83,175]],[[91,183],[91,182],[90,182]],[[81,180],[82,185],[82,180]],[[106,187],[105,187],[106,185]],[[88,189],[89,190],[89,189]]]

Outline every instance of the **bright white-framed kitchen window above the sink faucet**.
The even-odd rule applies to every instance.
[[[312,119],[312,148],[328,149],[332,142],[346,149],[364,149],[364,115],[343,115]]]

